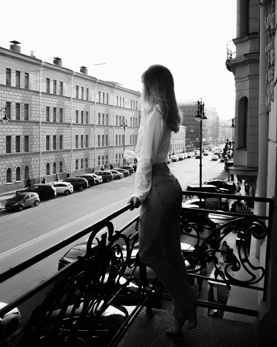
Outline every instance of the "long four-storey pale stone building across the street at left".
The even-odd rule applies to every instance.
[[[59,57],[51,64],[21,54],[14,43],[0,48],[0,106],[10,119],[0,125],[0,191],[25,176],[51,181],[123,164],[123,148],[134,150],[138,139],[139,92],[89,76],[85,66],[67,69]]]

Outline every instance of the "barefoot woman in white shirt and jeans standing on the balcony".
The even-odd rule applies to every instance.
[[[190,286],[180,244],[182,188],[167,163],[171,132],[182,120],[175,98],[174,80],[168,68],[150,66],[141,76],[142,118],[136,148],[138,167],[131,210],[141,204],[139,255],[163,282],[173,301],[175,327],[180,335],[197,325],[197,293]]]

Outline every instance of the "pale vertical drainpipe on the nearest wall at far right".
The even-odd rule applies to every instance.
[[[267,97],[267,84],[265,72],[267,59],[264,54],[267,45],[267,33],[264,27],[264,18],[267,15],[267,6],[260,8],[260,83],[259,83],[259,198],[267,195],[267,164],[268,164],[268,110],[265,104]],[[266,215],[266,203],[258,202],[258,215]],[[264,239],[256,240],[255,257],[260,257],[260,247]]]

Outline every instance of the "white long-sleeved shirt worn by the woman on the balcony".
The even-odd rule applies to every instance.
[[[152,165],[166,163],[171,130],[154,108],[149,116],[142,114],[136,147],[138,166],[133,197],[143,202],[152,185]]]

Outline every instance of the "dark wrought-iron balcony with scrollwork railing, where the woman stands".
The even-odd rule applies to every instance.
[[[183,192],[187,194],[195,192]],[[234,198],[225,194],[198,195],[203,199],[203,206],[207,206],[205,199],[211,201],[212,198],[220,206],[222,198]],[[206,276],[200,276],[192,268],[188,270],[189,277],[202,279],[209,286],[207,300],[201,296],[197,300],[195,330],[183,329],[180,337],[166,335],[165,330],[173,325],[171,297],[157,278],[149,279],[149,271],[134,251],[138,241],[138,217],[118,231],[113,228],[112,220],[127,212],[130,208],[127,205],[0,273],[0,283],[16,278],[33,264],[77,242],[80,237],[89,236],[84,255],[0,309],[0,346],[258,346],[258,310],[242,303],[253,296],[257,301],[258,294],[264,292],[266,268],[252,263],[249,247],[253,240],[267,237],[274,200],[236,199],[266,202],[269,214],[257,216],[183,207],[181,240],[190,240],[194,246],[183,252],[184,258],[190,266],[200,259],[207,269]],[[195,220],[192,214],[197,216]],[[268,228],[265,223],[269,223]],[[103,228],[107,228],[107,232],[93,245],[92,241]],[[222,262],[220,253],[226,252],[219,251],[220,243],[226,239],[228,243],[233,240],[237,244],[237,256],[229,263]],[[4,330],[4,315],[15,308],[21,323],[15,331]],[[109,320],[111,308],[112,322]]]

